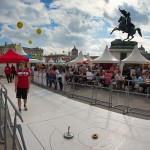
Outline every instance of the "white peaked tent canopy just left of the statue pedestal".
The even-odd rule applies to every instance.
[[[101,56],[92,60],[93,63],[119,63],[119,60],[116,59],[109,51],[108,45]]]

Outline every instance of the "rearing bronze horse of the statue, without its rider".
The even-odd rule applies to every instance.
[[[135,29],[135,25],[132,24],[131,22],[128,24],[125,17],[121,16],[118,22],[119,22],[119,26],[115,27],[110,34],[112,34],[114,31],[117,31],[117,30],[122,31],[123,33],[124,32],[128,33],[127,38],[124,39],[123,41],[132,40],[134,38],[133,35],[136,33],[136,31],[138,31],[138,34],[142,37],[141,29],[140,28]],[[131,38],[129,39],[130,36]]]

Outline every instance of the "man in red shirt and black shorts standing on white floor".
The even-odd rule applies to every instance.
[[[21,98],[24,100],[24,110],[27,111],[27,94],[30,89],[30,71],[25,68],[25,62],[20,61],[20,69],[16,72],[15,92],[18,98],[18,107],[21,112]]]

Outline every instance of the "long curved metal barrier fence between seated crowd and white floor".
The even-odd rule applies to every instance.
[[[150,82],[145,84],[146,93],[142,93],[142,87],[135,87],[133,80],[111,80],[110,85],[102,85],[99,77],[93,77],[87,80],[86,76],[73,75],[71,80],[65,80],[62,75],[63,90],[59,89],[59,82],[56,79],[50,79],[46,73],[34,72],[32,81],[38,85],[48,87],[55,92],[60,92],[68,97],[75,97],[89,102],[91,105],[102,105],[113,109],[119,109],[125,113],[137,113],[150,116]],[[77,80],[78,79],[78,80]],[[84,79],[86,79],[84,81]],[[49,83],[52,86],[49,87]],[[55,89],[57,83],[57,90]],[[121,85],[121,86],[120,86]]]

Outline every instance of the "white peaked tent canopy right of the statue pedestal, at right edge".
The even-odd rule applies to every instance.
[[[138,50],[137,45],[134,47],[132,53],[125,59],[121,61],[122,63],[132,63],[132,64],[144,64],[150,63]]]

